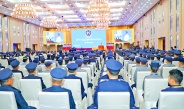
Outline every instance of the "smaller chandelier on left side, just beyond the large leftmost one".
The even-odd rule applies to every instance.
[[[57,27],[57,21],[54,17],[44,17],[40,23],[40,26],[47,28],[55,28]]]

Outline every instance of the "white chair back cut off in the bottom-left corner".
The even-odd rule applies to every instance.
[[[18,109],[13,92],[0,91],[0,109]]]

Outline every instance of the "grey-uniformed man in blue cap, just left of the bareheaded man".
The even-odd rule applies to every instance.
[[[159,67],[160,67],[160,62],[159,61],[151,61],[151,64],[150,64],[150,71],[151,71],[151,74],[146,76],[144,78],[144,81],[145,79],[153,79],[153,78],[163,78],[162,76],[158,75],[157,72],[159,71]],[[143,81],[143,90],[144,90],[144,81]]]

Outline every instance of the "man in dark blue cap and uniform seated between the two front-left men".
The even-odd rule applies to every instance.
[[[27,64],[25,68],[27,69],[29,75],[24,77],[24,78],[22,78],[22,79],[40,79],[41,85],[42,85],[42,89],[45,89],[46,86],[43,83],[42,77],[35,76],[36,75],[36,67],[37,67],[37,64],[34,63],[34,62],[30,62],[29,64]]]

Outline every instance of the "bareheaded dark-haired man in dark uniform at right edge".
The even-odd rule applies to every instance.
[[[184,87],[181,86],[183,80],[183,73],[178,69],[173,69],[169,71],[168,82],[169,86],[166,89],[163,89],[162,92],[184,92]],[[177,102],[177,101],[176,101]],[[158,102],[157,102],[158,107]],[[157,109],[157,108],[151,108]]]

